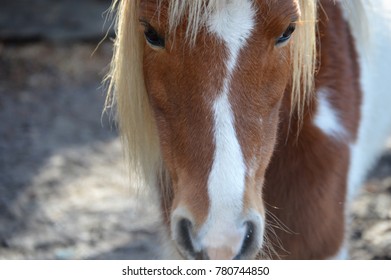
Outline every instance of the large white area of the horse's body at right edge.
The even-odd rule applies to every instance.
[[[356,142],[351,145],[348,202],[357,195],[368,171],[376,163],[386,140],[391,136],[391,2],[361,2],[367,20],[367,34],[370,35],[365,37],[365,42],[361,40],[363,32],[360,24],[357,24],[360,17],[352,12],[354,7],[350,7],[359,4],[360,1],[350,1],[347,8],[351,10],[344,8],[345,18],[350,23],[356,42],[363,93],[358,135]]]

